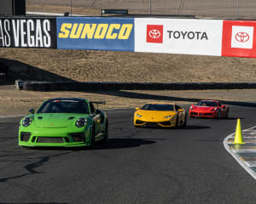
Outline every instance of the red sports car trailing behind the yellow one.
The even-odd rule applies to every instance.
[[[228,117],[228,105],[222,105],[217,100],[201,100],[197,105],[191,105],[189,108],[190,117]]]

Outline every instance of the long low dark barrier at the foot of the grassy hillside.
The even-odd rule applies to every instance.
[[[252,89],[256,82],[16,82],[27,91]]]

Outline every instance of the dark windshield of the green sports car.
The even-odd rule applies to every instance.
[[[37,113],[83,113],[89,114],[85,101],[77,100],[53,100],[45,101]]]

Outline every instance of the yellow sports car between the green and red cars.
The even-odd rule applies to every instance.
[[[174,103],[152,102],[134,113],[135,127],[186,127],[186,111]]]

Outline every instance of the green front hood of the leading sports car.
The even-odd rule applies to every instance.
[[[72,113],[40,113],[34,115],[34,122],[36,127],[60,128],[74,124],[82,116]]]

